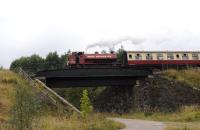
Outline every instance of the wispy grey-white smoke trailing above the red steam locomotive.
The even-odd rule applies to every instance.
[[[123,37],[118,40],[108,40],[108,41],[99,41],[93,44],[90,44],[86,47],[86,51],[93,47],[99,47],[99,48],[108,48],[109,50],[114,50],[116,45],[119,44],[140,44],[144,42],[144,39],[139,38],[133,38],[133,37]]]

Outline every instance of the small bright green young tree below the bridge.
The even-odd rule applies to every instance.
[[[80,102],[81,102],[81,112],[83,113],[83,115],[86,115],[92,112],[93,108],[90,103],[90,99],[88,97],[88,91],[86,89],[83,90],[83,94],[82,94]]]

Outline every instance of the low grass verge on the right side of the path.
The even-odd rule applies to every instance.
[[[123,115],[108,114],[111,117],[161,121],[165,130],[200,130],[200,106],[185,106],[173,113],[131,112]]]

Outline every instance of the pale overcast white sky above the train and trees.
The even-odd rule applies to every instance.
[[[114,49],[198,51],[199,7],[199,0],[0,0],[0,66],[114,42]]]

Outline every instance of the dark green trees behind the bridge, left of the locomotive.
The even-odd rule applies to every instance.
[[[63,69],[67,64],[68,54],[59,56],[57,52],[50,52],[45,59],[39,55],[21,57],[14,60],[10,65],[10,70],[22,68],[28,73],[36,73],[41,70]]]

